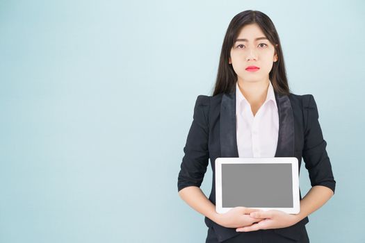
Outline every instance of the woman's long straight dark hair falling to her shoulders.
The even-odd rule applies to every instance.
[[[258,24],[271,44],[274,45],[277,53],[277,61],[273,63],[273,68],[269,73],[269,78],[276,92],[279,94],[289,94],[290,90],[288,80],[286,78],[282,46],[273,22],[263,12],[257,10],[245,10],[233,17],[229,23],[227,32],[225,33],[222,51],[220,52],[218,74],[213,96],[216,94],[232,92],[236,86],[237,75],[234,72],[232,65],[228,63],[228,60],[230,51],[238,37],[239,31],[241,31],[241,28],[247,24]]]

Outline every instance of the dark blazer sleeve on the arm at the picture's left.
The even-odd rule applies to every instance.
[[[195,101],[193,122],[184,146],[184,157],[180,165],[177,189],[188,186],[200,187],[209,164],[209,97],[199,95]]]

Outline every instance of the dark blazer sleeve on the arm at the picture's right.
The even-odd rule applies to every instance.
[[[309,171],[311,186],[323,185],[334,193],[336,181],[332,174],[330,158],[328,158],[326,146],[323,140],[321,126],[318,121],[318,109],[313,95],[308,94],[303,101],[305,119],[305,142],[302,156],[305,167]]]

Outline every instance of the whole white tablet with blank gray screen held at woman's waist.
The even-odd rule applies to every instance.
[[[298,214],[298,159],[217,158],[216,211],[238,206]]]

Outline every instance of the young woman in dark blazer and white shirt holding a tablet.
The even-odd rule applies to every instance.
[[[289,91],[273,22],[263,12],[238,13],[225,34],[213,95],[197,97],[177,183],[181,198],[205,216],[206,242],[309,242],[307,216],[330,199],[336,184],[325,147],[314,97]],[[296,157],[299,168],[303,158],[312,187],[300,194],[300,213],[236,207],[218,214],[219,157]],[[209,159],[207,199],[200,185]]]

